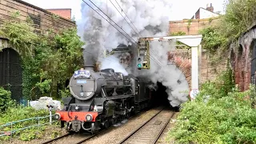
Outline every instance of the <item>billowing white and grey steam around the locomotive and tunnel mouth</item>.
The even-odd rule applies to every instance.
[[[98,13],[102,14],[90,1],[85,1]],[[132,36],[136,42],[138,41],[138,35],[134,32],[136,29],[131,29],[111,4],[113,2],[118,10],[121,11],[115,0],[111,0],[111,2],[109,0],[94,0],[92,2],[114,20],[118,26],[121,26],[122,30]],[[169,33],[170,0],[117,0],[117,2],[122,6],[122,10],[128,15],[142,37],[164,36]],[[85,57],[88,54],[93,54],[95,60],[102,61],[102,69],[113,68],[126,74],[124,68],[117,64],[118,59],[114,57],[107,58],[112,61],[111,63],[110,60],[102,57],[104,50],[111,50],[119,44],[129,45],[130,41],[94,10],[91,10],[84,2],[82,2],[81,11],[82,21],[78,22],[78,34],[86,42]],[[102,15],[106,18],[104,14]],[[125,15],[123,14],[123,16]],[[108,18],[106,19],[110,22]],[[126,20],[129,22],[127,18]],[[114,22],[111,23],[114,25]],[[132,24],[130,25],[132,26]],[[182,71],[178,70],[174,65],[168,65],[167,52],[170,48],[169,42],[150,42],[150,49],[152,50],[150,54],[154,59],[151,59],[150,70],[137,70],[135,73],[138,76],[143,75],[150,78],[152,82],[162,82],[162,85],[167,88],[166,92],[169,94],[170,104],[178,106],[187,100],[187,94],[184,91],[189,90],[189,86]],[[158,64],[160,62],[161,66]]]

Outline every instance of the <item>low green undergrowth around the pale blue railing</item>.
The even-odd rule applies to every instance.
[[[17,106],[14,105],[9,107],[5,113],[0,114],[0,126],[6,123],[20,121],[26,118],[36,118],[36,117],[44,117],[49,115],[49,111],[47,110],[34,110],[32,107],[26,106]],[[29,129],[18,130],[12,135],[13,138],[19,138],[22,141],[30,141],[34,138],[42,138],[44,133],[46,132],[46,128],[49,127],[47,125],[43,125],[49,122],[49,118],[40,118],[40,119],[30,119],[23,122],[14,123],[12,126],[3,126],[0,127],[0,131],[6,132],[10,130],[18,130],[22,129],[26,126],[33,126]],[[38,127],[38,124],[40,126]],[[51,126],[59,125],[58,122],[53,122]],[[9,140],[10,136],[0,137],[0,140]]]

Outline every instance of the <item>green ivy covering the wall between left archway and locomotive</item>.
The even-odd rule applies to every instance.
[[[18,20],[18,13],[6,20],[0,34],[8,38],[22,56],[22,94],[28,99],[40,96],[62,97],[66,80],[82,66],[82,46],[75,28],[54,33],[49,29],[38,34],[27,18]],[[65,95],[65,94],[63,94]]]

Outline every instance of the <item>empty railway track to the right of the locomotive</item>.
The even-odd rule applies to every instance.
[[[148,121],[144,122],[142,126],[131,132],[126,138],[123,138],[121,143],[146,143],[155,144],[158,142],[158,138],[162,135],[170,119],[174,116],[174,111],[160,110]]]

